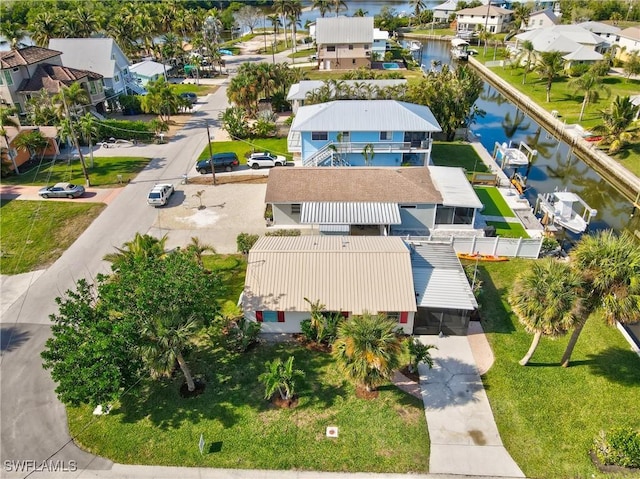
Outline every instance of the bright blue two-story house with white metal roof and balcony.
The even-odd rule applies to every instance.
[[[304,166],[422,166],[442,129],[429,107],[396,100],[336,100],[298,109],[288,149]]]

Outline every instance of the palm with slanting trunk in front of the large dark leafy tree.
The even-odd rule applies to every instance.
[[[191,370],[184,359],[184,350],[200,326],[194,318],[184,318],[177,312],[148,318],[142,324],[140,351],[153,376],[171,376],[177,362],[184,374],[187,388],[189,391],[195,390]]]

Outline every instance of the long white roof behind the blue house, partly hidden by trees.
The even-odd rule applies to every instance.
[[[326,96],[323,101],[337,99],[373,100],[384,90],[406,91],[407,80],[404,78],[390,80],[303,80],[289,88],[287,101],[291,103],[293,114],[304,106],[309,98]],[[388,96],[387,96],[388,97]]]

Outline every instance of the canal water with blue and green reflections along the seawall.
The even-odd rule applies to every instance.
[[[430,41],[414,55],[418,60],[422,58],[421,63],[428,70],[433,65],[432,60],[442,64],[451,63],[449,48],[449,42]],[[616,231],[628,229],[633,233],[640,230],[640,211],[632,217],[630,201],[580,160],[569,145],[554,138],[486,82],[476,105],[486,115],[478,118],[470,129],[489,154],[493,154],[496,142],[512,142],[517,147],[522,141],[538,151],[530,168],[520,167],[518,170],[527,176],[525,196],[532,206],[538,193],[566,189],[578,194],[591,208],[598,210],[589,231],[612,228]],[[513,172],[513,169],[508,169],[507,176]]]

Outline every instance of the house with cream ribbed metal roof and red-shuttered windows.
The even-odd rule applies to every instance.
[[[401,238],[260,238],[249,251],[244,316],[263,332],[300,332],[309,318],[304,298],[347,317],[386,313],[411,333],[417,307],[409,248]]]

